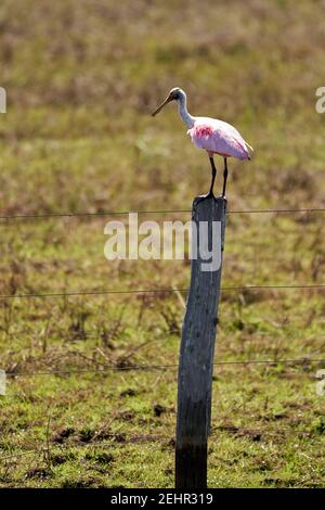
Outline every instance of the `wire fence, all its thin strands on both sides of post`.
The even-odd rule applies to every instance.
[[[313,214],[313,213],[324,213],[325,207],[314,207],[314,208],[268,208],[268,209],[234,209],[229,211],[227,215],[232,214]],[[44,213],[44,214],[18,214],[18,215],[1,215],[0,220],[2,224],[20,220],[20,219],[32,219],[32,220],[42,220],[42,219],[58,219],[58,218],[82,218],[82,217],[105,217],[105,216],[126,216],[130,213],[136,213],[141,215],[152,215],[152,214],[182,214],[191,213],[191,209],[165,209],[165,211],[112,211],[112,212],[98,212],[98,213]],[[249,291],[323,291],[325,284],[270,284],[270,285],[235,285],[235,286],[221,286],[222,292],[249,292]],[[121,289],[121,290],[83,290],[83,291],[69,291],[69,292],[41,292],[41,293],[15,293],[15,294],[0,294],[0,299],[17,299],[17,298],[50,298],[50,297],[74,297],[74,296],[100,296],[100,295],[144,295],[144,294],[169,294],[169,293],[187,293],[188,289],[174,289],[174,288],[164,288],[164,289]],[[321,353],[322,355],[322,353]],[[278,359],[248,359],[248,360],[227,360],[227,361],[218,361],[213,366],[299,366],[299,365],[310,365],[310,364],[324,364],[325,358],[312,358],[307,354],[306,356],[299,358],[278,358]],[[155,370],[177,370],[178,364],[157,364],[157,365],[126,365],[117,364],[106,366],[102,368],[84,368],[84,369],[58,369],[58,370],[39,370],[39,371],[20,371],[12,370],[5,373],[9,378],[21,378],[21,377],[38,377],[38,375],[73,375],[73,374],[84,374],[84,373],[105,373],[108,371],[155,371]],[[212,435],[218,433],[230,433],[236,435],[245,434],[256,434],[257,436],[271,435],[271,436],[317,436],[317,433],[312,430],[312,424],[310,430],[299,430],[299,429],[264,429],[264,428],[248,428],[248,426],[236,426],[230,424],[223,424],[213,426]],[[114,444],[128,445],[136,444],[143,442],[168,442],[168,444],[173,445],[174,438],[164,435],[142,435],[142,436],[127,436],[123,433],[119,434],[107,434],[105,435],[105,442],[90,442],[90,443],[69,443],[64,445],[51,444],[51,448],[105,448],[112,447]],[[321,435],[320,435],[321,437]],[[108,441],[107,441],[108,439]],[[9,447],[10,448],[10,447]],[[3,450],[1,454],[5,454],[6,450]],[[29,456],[34,454],[43,454],[47,456],[48,460],[50,459],[50,448],[49,445],[42,446],[39,448],[32,448],[25,451],[15,451],[10,455],[1,455],[0,462],[6,463],[8,461],[14,461],[20,457]]]

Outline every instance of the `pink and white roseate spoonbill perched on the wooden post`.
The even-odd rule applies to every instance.
[[[207,151],[210,158],[212,177],[210,191],[203,199],[213,195],[213,184],[217,176],[217,168],[213,161],[213,154],[219,154],[224,161],[222,195],[225,196],[225,187],[227,178],[227,157],[237,160],[250,160],[252,148],[244,140],[242,135],[231,124],[217,118],[193,117],[186,109],[186,94],[184,90],[176,87],[171,89],[166,100],[152,114],[153,117],[164,109],[170,101],[177,101],[181,119],[186,124],[194,145],[197,149]]]

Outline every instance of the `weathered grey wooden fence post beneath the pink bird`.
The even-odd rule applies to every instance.
[[[204,201],[196,197],[193,202],[192,219],[197,238],[193,235],[192,244],[197,250],[196,257],[192,258],[180,349],[176,488],[207,487],[207,443],[225,213],[226,201],[223,197]],[[207,260],[207,250],[212,252],[210,260]],[[210,264],[209,270],[207,263]]]

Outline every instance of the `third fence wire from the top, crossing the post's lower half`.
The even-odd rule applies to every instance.
[[[325,358],[278,358],[278,359],[251,359],[245,361],[216,361],[213,362],[213,367],[216,366],[229,366],[229,365],[281,365],[281,364],[288,364],[288,365],[308,365],[308,364],[322,364],[325,362]],[[18,377],[35,377],[35,375],[64,375],[64,374],[80,374],[80,373],[105,373],[108,371],[132,371],[132,370],[168,370],[168,369],[177,369],[179,367],[178,364],[169,364],[169,365],[123,365],[122,362],[104,366],[103,368],[84,368],[84,369],[72,369],[72,370],[44,370],[44,371],[35,371],[35,372],[20,372],[20,371],[6,371],[6,377],[11,378],[18,378]]]

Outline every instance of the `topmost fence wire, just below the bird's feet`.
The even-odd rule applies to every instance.
[[[266,208],[266,209],[233,209],[226,214],[298,214],[298,213],[324,213],[325,207],[302,207],[302,208]],[[106,211],[99,213],[41,213],[41,214],[16,214],[1,215],[0,220],[15,219],[46,219],[46,218],[80,218],[80,217],[101,217],[101,216],[127,216],[131,213],[135,214],[181,214],[191,213],[191,209],[157,209],[157,211]]]

